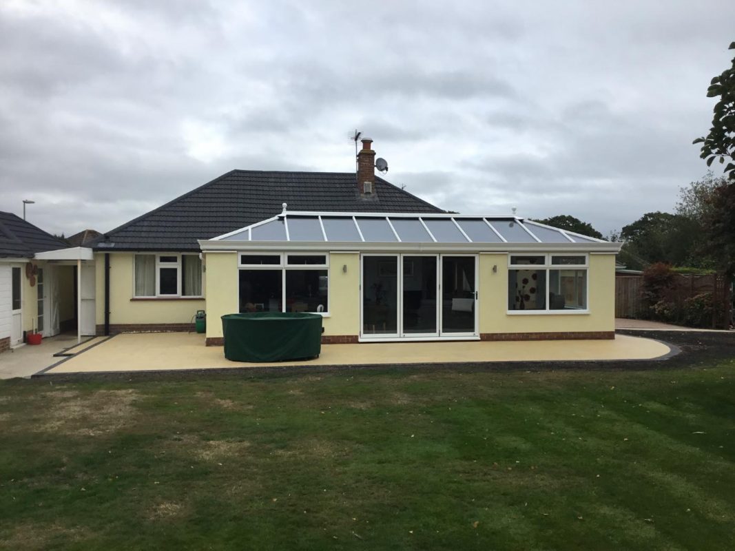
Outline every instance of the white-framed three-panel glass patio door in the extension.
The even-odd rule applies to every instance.
[[[473,338],[477,256],[362,255],[362,339]]]

